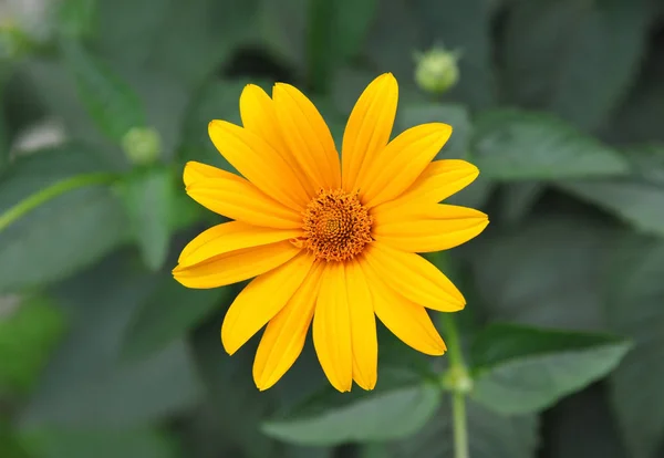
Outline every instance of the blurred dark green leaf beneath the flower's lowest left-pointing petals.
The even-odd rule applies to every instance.
[[[133,319],[123,353],[131,358],[147,356],[180,340],[212,311],[232,299],[229,287],[191,290],[170,275],[163,279]]]

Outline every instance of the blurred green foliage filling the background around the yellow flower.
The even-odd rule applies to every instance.
[[[437,46],[442,95],[415,79]],[[449,123],[438,158],[481,170],[449,201],[491,225],[433,257],[468,299],[470,456],[663,456],[661,1],[0,0],[1,457],[453,456],[447,356],[380,327],[374,392],[308,343],[259,393],[256,340],[219,342],[239,288],[169,272],[220,221],[180,176],[234,171],[207,123],[245,84],[303,89],[339,143],[382,72],[396,132]]]

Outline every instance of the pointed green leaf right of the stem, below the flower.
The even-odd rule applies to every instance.
[[[535,413],[602,378],[629,348],[612,335],[492,324],[473,343],[471,396],[500,414]]]

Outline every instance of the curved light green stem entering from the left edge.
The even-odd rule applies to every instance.
[[[34,210],[40,205],[69,191],[72,189],[81,188],[84,186],[100,185],[104,183],[111,183],[117,178],[117,175],[98,173],[98,174],[86,174],[77,175],[58,181],[48,188],[41,189],[37,194],[33,194],[25,199],[21,200],[13,207],[10,207],[4,214],[0,215],[0,231],[4,230],[9,225],[21,218],[23,215],[31,210]]]

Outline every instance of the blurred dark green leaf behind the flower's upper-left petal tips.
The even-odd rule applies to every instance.
[[[212,119],[240,123],[238,101],[245,84],[243,81],[212,82],[201,89],[185,118],[179,147],[179,158],[183,162],[197,160],[236,171],[212,145],[207,126]]]

